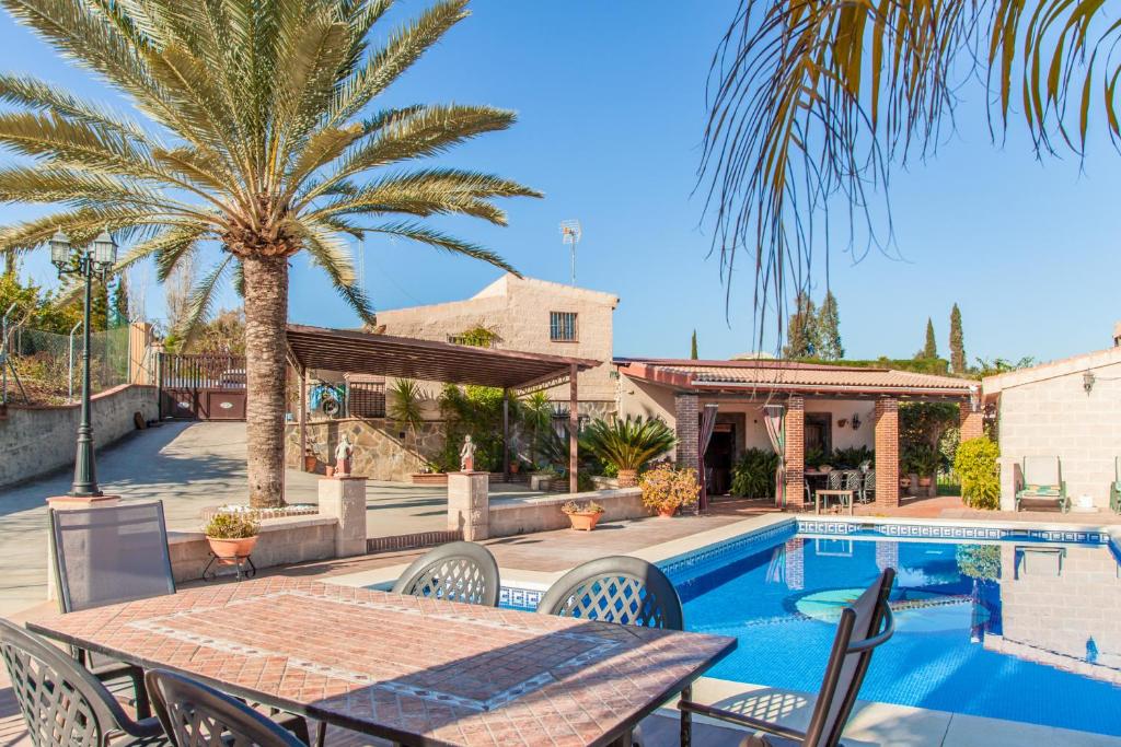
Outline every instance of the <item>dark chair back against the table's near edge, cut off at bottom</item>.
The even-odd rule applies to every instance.
[[[145,672],[143,679],[176,747],[306,747],[262,713],[202,682],[165,670]]]

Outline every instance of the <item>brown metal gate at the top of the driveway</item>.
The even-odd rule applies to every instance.
[[[160,419],[245,419],[243,356],[160,353],[157,366]]]

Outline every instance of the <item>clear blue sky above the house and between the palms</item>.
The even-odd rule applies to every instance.
[[[441,227],[491,246],[528,276],[567,282],[557,224],[578,218],[578,283],[622,299],[617,354],[684,356],[694,328],[702,357],[751,348],[751,279],[734,280],[725,320],[719,265],[706,260],[708,239],[698,228],[702,204],[691,197],[710,56],[734,4],[476,0],[473,16],[385,96],[386,104],[455,101],[519,112],[513,130],[443,160],[519,179],[546,198],[506,203],[507,228],[470,218]],[[406,0],[391,21],[424,6]],[[0,17],[0,45],[9,69],[112,99],[8,17]],[[993,146],[983,91],[963,95],[958,131],[938,157],[893,177],[906,260],[873,253],[853,264],[840,252],[832,256],[849,356],[914,354],[928,316],[945,353],[954,301],[971,360],[1048,360],[1105,347],[1121,318],[1121,158],[1104,136],[1093,139],[1082,168],[1071,156],[1037,161],[1018,129]],[[0,207],[0,222],[37,212]],[[823,268],[819,258],[815,263]],[[41,256],[27,271],[53,276]],[[463,298],[497,274],[406,242],[365,245],[365,281],[381,309]],[[824,292],[822,276],[815,296]],[[156,316],[158,297],[152,288]],[[293,274],[291,318],[356,323],[303,258]]]

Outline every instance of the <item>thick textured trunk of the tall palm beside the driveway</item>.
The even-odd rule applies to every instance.
[[[245,432],[249,503],[284,505],[285,327],[288,260],[251,256],[245,278]]]

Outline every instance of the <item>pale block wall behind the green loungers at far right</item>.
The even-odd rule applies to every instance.
[[[1087,393],[1084,374],[1094,383]],[[998,399],[1001,507],[1012,510],[1023,457],[1057,456],[1067,494],[1109,506],[1113,459],[1121,456],[1121,349],[1112,348],[985,379]]]

